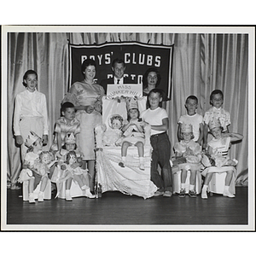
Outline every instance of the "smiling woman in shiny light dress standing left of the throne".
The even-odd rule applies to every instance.
[[[102,96],[104,89],[94,82],[96,76],[96,62],[87,59],[82,64],[84,80],[75,82],[63,102],[72,102],[75,106],[76,119],[80,121],[80,133],[77,145],[84,154],[83,168],[90,173],[90,191],[94,191],[95,181],[95,134],[96,125],[102,124]],[[62,103],[63,103],[62,102]]]

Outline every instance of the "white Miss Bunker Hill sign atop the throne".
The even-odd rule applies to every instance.
[[[142,98],[143,84],[108,84],[107,99],[118,96]]]

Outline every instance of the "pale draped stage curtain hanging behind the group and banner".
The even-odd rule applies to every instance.
[[[172,97],[167,104],[172,147],[177,140],[177,120],[186,113],[185,99],[199,99],[198,113],[211,108],[212,90],[224,92],[224,109],[230,112],[230,131],[243,134],[241,143],[230,149],[231,158],[239,161],[236,185],[247,185],[248,150],[248,36],[247,34],[196,33],[65,33],[12,32],[8,35],[8,160],[7,180],[16,183],[20,173],[20,148],[15,145],[13,113],[15,96],[22,90],[26,70],[38,72],[38,90],[47,98],[49,143],[55,120],[60,116],[61,99],[67,92],[68,44],[102,44],[137,41],[148,44],[174,44]],[[148,42],[149,41],[149,42]],[[48,149],[46,146],[45,149]]]

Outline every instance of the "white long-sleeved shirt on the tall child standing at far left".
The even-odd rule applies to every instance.
[[[38,117],[44,119],[44,134],[48,135],[49,120],[47,113],[46,97],[38,90],[30,92],[24,90],[15,98],[14,131],[15,136],[20,133],[20,119]]]

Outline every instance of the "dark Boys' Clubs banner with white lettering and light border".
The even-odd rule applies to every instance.
[[[125,61],[125,77],[143,84],[143,74],[149,67],[159,70],[161,81],[158,88],[165,90],[170,98],[172,91],[172,55],[173,45],[142,44],[137,42],[120,42],[105,44],[69,44],[69,86],[84,79],[81,64],[87,59],[96,61],[95,81],[113,77],[112,61],[115,58]]]

